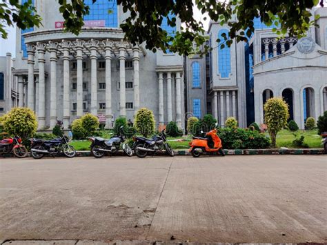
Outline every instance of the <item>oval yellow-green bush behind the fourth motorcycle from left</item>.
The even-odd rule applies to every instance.
[[[141,108],[137,111],[134,126],[138,133],[144,137],[152,135],[155,132],[155,116],[152,110]]]

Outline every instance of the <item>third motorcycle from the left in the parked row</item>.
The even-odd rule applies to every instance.
[[[101,137],[89,137],[89,140],[92,141],[90,146],[91,153],[96,158],[101,158],[105,153],[110,155],[118,152],[120,145],[123,148],[123,152],[132,157],[133,152],[132,148],[126,143],[126,136],[123,135],[123,126],[119,128],[119,135],[115,135],[110,139],[103,139]]]

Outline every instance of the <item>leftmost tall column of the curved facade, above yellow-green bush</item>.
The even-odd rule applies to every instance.
[[[28,108],[34,110],[34,45],[27,45],[28,49]]]

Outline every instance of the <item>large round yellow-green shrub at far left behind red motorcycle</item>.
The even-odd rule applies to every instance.
[[[30,108],[12,108],[2,121],[3,130],[22,139],[32,137],[37,131],[37,117]]]

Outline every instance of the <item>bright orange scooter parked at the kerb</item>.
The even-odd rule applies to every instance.
[[[201,133],[203,133],[201,131]],[[206,133],[204,137],[193,137],[190,141],[190,153],[193,157],[199,157],[201,153],[219,153],[222,157],[225,156],[221,145],[221,139],[217,135],[217,129],[212,129]]]

